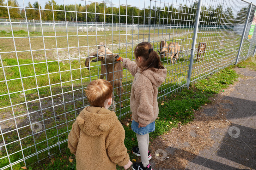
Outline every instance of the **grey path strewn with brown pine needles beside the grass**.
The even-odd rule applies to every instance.
[[[238,81],[196,110],[193,122],[151,142],[154,170],[256,169],[256,71],[235,71]]]

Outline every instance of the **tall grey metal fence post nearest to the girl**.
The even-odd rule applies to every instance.
[[[188,68],[188,73],[187,73],[187,81],[186,81],[186,86],[185,86],[187,88],[189,88],[189,83],[190,83],[191,74],[192,74],[192,67],[193,67],[195,47],[196,47],[196,42],[197,42],[197,32],[198,32],[198,27],[199,27],[202,3],[203,3],[203,0],[198,0],[197,16],[196,16],[195,27],[194,27],[194,36],[193,36],[193,42],[192,42],[192,47],[191,47],[189,68]]]

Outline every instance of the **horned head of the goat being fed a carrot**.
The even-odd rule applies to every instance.
[[[97,57],[96,59],[93,59]],[[93,59],[93,60],[91,60]],[[113,54],[109,48],[107,48],[107,46],[105,46],[104,43],[99,43],[98,44],[98,52],[95,51],[93,53],[91,53],[89,55],[89,57],[85,60],[85,66],[88,67],[87,69],[89,69],[89,61],[91,62],[97,62],[97,61],[101,61],[102,64],[109,64],[109,63],[119,63],[121,62],[121,60],[117,61],[117,59],[119,59],[119,55],[118,54]]]

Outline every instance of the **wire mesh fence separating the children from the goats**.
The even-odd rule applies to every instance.
[[[168,70],[159,100],[255,54],[256,7],[246,1],[41,5],[0,3],[6,14],[0,18],[0,170],[63,151],[72,123],[89,105],[84,90],[93,80],[113,83],[109,109],[120,120],[130,116],[133,76],[116,59],[134,60],[138,43],[151,43]]]

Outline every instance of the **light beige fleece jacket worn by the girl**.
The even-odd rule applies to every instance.
[[[147,69],[141,73],[137,64],[130,59],[123,60],[123,67],[134,76],[130,101],[132,118],[137,123],[148,125],[158,116],[158,87],[165,81],[167,69]]]

